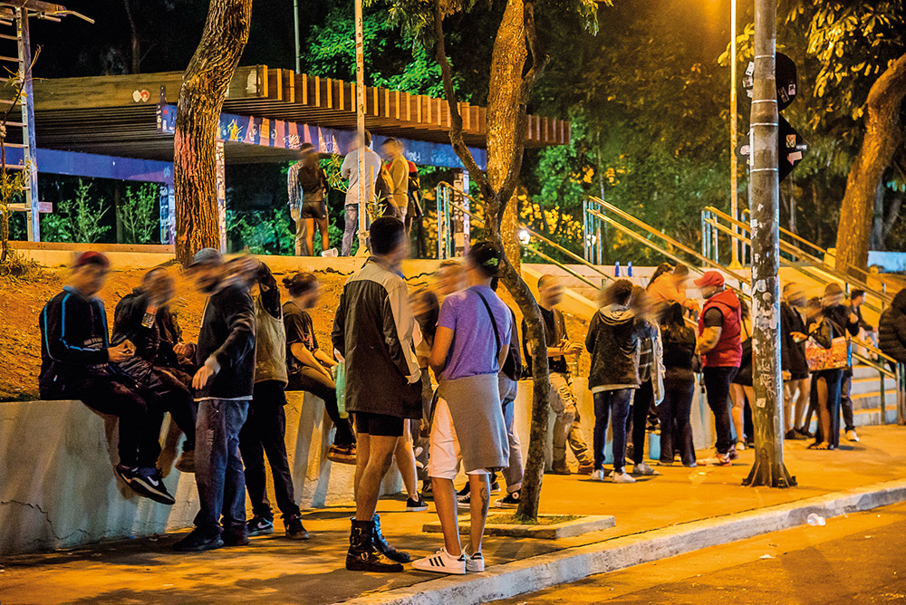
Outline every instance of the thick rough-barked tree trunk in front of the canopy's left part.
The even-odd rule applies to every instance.
[[[226,90],[248,41],[252,0],[211,0],[198,49],[182,78],[173,149],[177,260],[220,247],[215,148]]]

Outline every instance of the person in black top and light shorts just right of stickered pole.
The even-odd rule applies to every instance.
[[[808,427],[803,426],[805,409],[811,389],[808,361],[805,360],[805,320],[800,309],[805,308],[805,290],[798,283],[784,285],[783,301],[780,303],[780,360],[784,376],[784,414],[787,439],[812,437]]]

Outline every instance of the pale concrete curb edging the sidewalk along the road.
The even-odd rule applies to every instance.
[[[597,573],[789,529],[806,523],[812,513],[829,518],[903,501],[906,501],[906,480],[866,485],[568,548],[496,565],[483,573],[423,581],[342,602],[344,605],[477,605],[582,580]]]

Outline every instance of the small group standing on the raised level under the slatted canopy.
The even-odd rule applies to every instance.
[[[398,139],[384,139],[381,155],[371,150],[371,133],[365,131],[365,198],[374,200],[374,214],[394,216],[410,232],[423,216],[419,199],[419,170],[403,156],[403,144]],[[287,193],[290,216],[295,223],[295,254],[314,254],[315,229],[321,235],[321,250],[325,256],[337,255],[331,248],[330,216],[327,194],[331,186],[320,165],[321,155],[312,143],[303,143],[299,161],[287,172]],[[352,240],[359,229],[359,149],[352,149],[342,160],[340,178],[346,180],[345,227],[340,254],[352,254]],[[371,216],[366,219],[371,222]]]

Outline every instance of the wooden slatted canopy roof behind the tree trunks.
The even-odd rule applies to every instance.
[[[157,105],[177,103],[182,72],[60,78],[34,81],[35,132],[39,148],[67,149],[129,158],[171,159],[172,136],[159,132]],[[0,98],[3,93],[0,92]],[[367,128],[375,134],[448,143],[447,101],[368,87]],[[224,112],[355,130],[355,85],[266,65],[237,68]],[[469,146],[484,148],[487,110],[459,103]],[[526,146],[562,145],[569,122],[529,116]],[[231,162],[276,159],[281,149],[231,149]],[[289,157],[289,156],[287,156]]]

